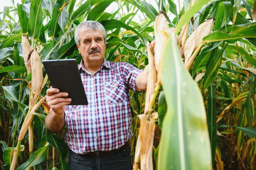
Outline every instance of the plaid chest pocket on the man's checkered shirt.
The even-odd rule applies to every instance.
[[[108,104],[123,103],[127,100],[125,85],[120,80],[106,81],[105,92]]]

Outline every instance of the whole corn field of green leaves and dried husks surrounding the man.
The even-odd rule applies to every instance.
[[[106,60],[148,72],[147,92],[130,91],[135,170],[256,169],[256,1],[154,2],[13,0],[0,11],[2,170],[68,169],[65,129],[45,128],[41,61],[80,63],[84,20],[105,27]]]

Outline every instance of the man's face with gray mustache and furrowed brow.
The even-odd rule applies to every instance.
[[[79,32],[80,45],[77,45],[85,64],[102,62],[106,43],[102,30],[81,29]]]

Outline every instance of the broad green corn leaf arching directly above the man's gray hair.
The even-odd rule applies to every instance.
[[[105,9],[115,0],[102,0],[94,8],[90,10],[87,16],[87,20],[97,20],[99,16],[105,11]]]

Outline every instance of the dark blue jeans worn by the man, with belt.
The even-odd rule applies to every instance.
[[[79,155],[69,150],[70,170],[132,170],[131,148],[127,146],[114,154],[101,157]]]

